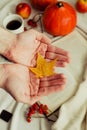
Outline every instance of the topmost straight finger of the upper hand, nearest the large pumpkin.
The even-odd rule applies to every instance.
[[[52,46],[52,45],[49,45],[48,46],[48,49],[47,49],[48,52],[54,52],[54,53],[57,53],[57,54],[61,54],[61,55],[64,55],[64,56],[69,56],[69,53],[61,48],[58,48],[56,46]]]

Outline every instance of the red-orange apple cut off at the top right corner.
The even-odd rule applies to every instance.
[[[77,0],[76,8],[81,13],[87,12],[87,0]]]

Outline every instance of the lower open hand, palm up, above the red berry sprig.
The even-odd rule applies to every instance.
[[[61,91],[66,79],[62,74],[45,78],[36,78],[26,66],[20,64],[3,64],[3,89],[18,101],[33,104],[40,97]],[[4,78],[4,79],[3,79]]]

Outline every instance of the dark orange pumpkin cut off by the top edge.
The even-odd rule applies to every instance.
[[[55,3],[57,0],[30,0],[30,2],[35,9],[44,11],[49,4]]]

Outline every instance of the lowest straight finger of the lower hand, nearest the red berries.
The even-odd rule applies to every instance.
[[[39,89],[38,92],[38,96],[46,96],[49,95],[51,93],[56,93],[59,92],[61,90],[63,90],[65,87],[65,85],[55,85],[55,86],[51,86],[51,87],[42,87]]]

